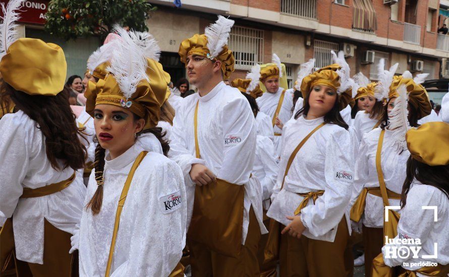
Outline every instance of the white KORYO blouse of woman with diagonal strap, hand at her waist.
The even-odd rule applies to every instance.
[[[352,191],[353,161],[349,132],[334,124],[326,124],[317,130],[296,155],[285,178],[282,180],[287,162],[298,144],[315,127],[323,122],[323,117],[307,120],[303,116],[292,119],[284,126],[283,151],[277,174],[277,181],[271,196],[272,203],[267,216],[288,225],[286,216],[294,212],[304,199],[297,193],[324,190],[313,203],[301,211],[301,221],[308,238],[333,242],[337,226],[345,216],[349,224],[349,200]]]

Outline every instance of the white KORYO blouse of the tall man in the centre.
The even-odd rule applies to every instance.
[[[200,159],[195,157],[194,135],[194,113],[198,101]],[[195,195],[195,183],[189,172],[192,164],[203,164],[217,178],[245,186],[242,242],[245,242],[248,232],[251,205],[261,232],[264,232],[260,205],[262,195],[254,194],[260,192],[260,184],[250,181],[256,148],[256,124],[248,100],[238,89],[220,82],[203,97],[195,93],[184,98],[173,122],[171,140],[169,157],[183,170],[187,187],[188,224]],[[260,210],[256,209],[257,206]]]

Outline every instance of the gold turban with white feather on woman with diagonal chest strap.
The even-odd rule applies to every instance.
[[[335,63],[304,77],[301,83],[301,93],[304,99],[307,99],[314,86],[329,87],[337,93],[339,109],[343,110],[352,100],[354,80],[349,77],[350,68],[345,60],[344,52],[340,51],[338,56],[333,51],[331,53]]]

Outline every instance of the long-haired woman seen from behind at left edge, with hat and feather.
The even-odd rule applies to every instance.
[[[62,48],[17,39],[22,2],[9,2],[0,26],[1,90],[18,110],[0,120],[0,275],[70,276],[70,237],[86,194],[75,172],[84,167],[86,148],[68,95],[61,93],[67,72]]]

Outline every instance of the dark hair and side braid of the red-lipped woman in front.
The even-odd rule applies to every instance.
[[[134,121],[137,121],[141,117],[133,113],[133,118]],[[160,127],[148,128],[146,130],[138,132],[137,136],[141,135],[142,133],[154,134],[154,136],[157,137],[157,139],[160,142],[160,145],[162,146],[163,155],[167,156],[167,153],[169,153],[170,150],[170,146],[169,142],[164,138],[166,132],[162,133],[162,128]],[[97,137],[94,138],[94,141],[98,143]],[[97,183],[97,189],[95,190],[95,193],[93,194],[92,198],[86,205],[86,209],[90,207],[93,215],[97,215],[100,212],[101,204],[103,203],[103,181],[104,181],[103,171],[104,171],[105,152],[106,150],[102,148],[101,145],[98,143],[97,147],[95,148],[95,162],[94,162],[95,181]]]

